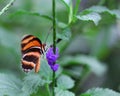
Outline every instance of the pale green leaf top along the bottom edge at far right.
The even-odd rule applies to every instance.
[[[80,96],[120,96],[120,93],[111,89],[93,88],[88,90],[86,93],[81,94]]]

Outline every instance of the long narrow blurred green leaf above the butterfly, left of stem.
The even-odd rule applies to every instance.
[[[10,17],[13,18],[16,15],[32,15],[32,16],[38,16],[38,17],[43,17],[43,18],[48,19],[48,20],[52,20],[52,17],[50,17],[48,15],[40,14],[40,13],[36,13],[36,12],[29,12],[29,11],[25,11],[25,10],[16,11],[12,15],[10,15]]]

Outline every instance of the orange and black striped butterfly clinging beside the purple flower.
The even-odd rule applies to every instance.
[[[45,44],[33,35],[26,35],[21,40],[22,68],[29,72],[33,68],[35,72],[40,69],[40,58],[45,51]]]

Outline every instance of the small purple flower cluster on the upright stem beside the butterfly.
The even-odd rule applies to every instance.
[[[47,58],[48,64],[50,65],[53,71],[57,71],[59,68],[59,65],[55,64],[58,57],[59,57],[58,48],[56,48],[56,54],[54,54],[53,47],[50,47],[46,53],[46,58]]]

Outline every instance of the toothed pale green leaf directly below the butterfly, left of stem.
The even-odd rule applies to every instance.
[[[43,86],[45,81],[41,79],[39,74],[32,73],[28,74],[24,78],[22,91],[25,96],[29,96],[32,93],[37,92],[39,86]]]

